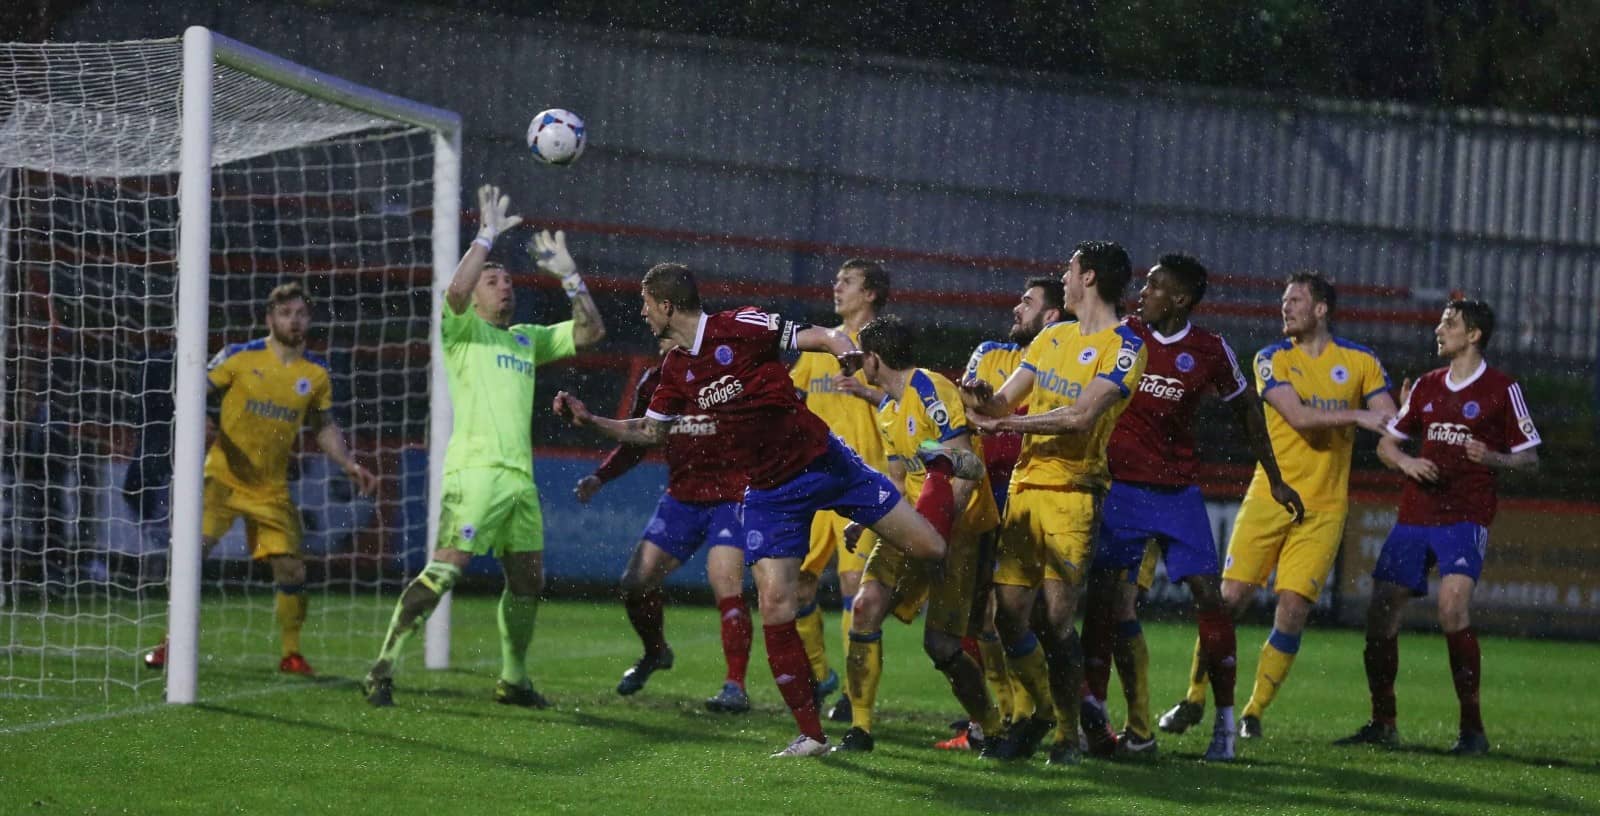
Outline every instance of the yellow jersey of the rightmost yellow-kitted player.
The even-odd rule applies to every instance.
[[[1389,390],[1389,374],[1378,355],[1355,342],[1333,338],[1320,357],[1310,357],[1293,339],[1282,339],[1256,352],[1256,389],[1288,386],[1312,408],[1362,408],[1366,400]],[[1278,470],[1307,510],[1344,510],[1350,491],[1350,451],[1355,427],[1331,427],[1301,434],[1290,427],[1272,403],[1266,406],[1267,432]],[[1267,474],[1256,466],[1246,496],[1270,499]]]

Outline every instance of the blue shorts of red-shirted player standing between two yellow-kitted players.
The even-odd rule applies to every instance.
[[[1162,547],[1166,578],[1174,584],[1192,574],[1222,571],[1200,488],[1112,482],[1101,506],[1091,570],[1131,570],[1136,576],[1150,539]]]

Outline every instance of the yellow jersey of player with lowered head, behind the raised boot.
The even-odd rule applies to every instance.
[[[962,392],[947,378],[926,368],[917,368],[906,378],[906,390],[898,398],[883,398],[878,406],[878,430],[888,459],[906,467],[906,501],[912,504],[917,504],[922,485],[928,480],[928,469],[917,456],[917,446],[971,434],[966,410],[962,408]],[[962,525],[974,533],[1000,525],[1000,509],[987,474],[966,501]]]

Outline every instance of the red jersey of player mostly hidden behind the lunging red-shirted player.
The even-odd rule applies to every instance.
[[[638,378],[634,387],[634,406],[629,416],[645,416],[650,398],[661,384],[661,366],[653,366]],[[648,448],[619,445],[595,469],[602,482],[626,474]],[[746,478],[730,470],[720,459],[722,445],[717,440],[717,419],[710,414],[680,416],[667,437],[667,494],[678,501],[725,502],[744,501]]]

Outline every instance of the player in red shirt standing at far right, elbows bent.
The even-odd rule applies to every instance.
[[[1400,672],[1400,613],[1427,595],[1427,571],[1438,566],[1438,627],[1450,646],[1450,674],[1461,701],[1456,755],[1488,754],[1478,710],[1480,651],[1467,606],[1483,571],[1494,520],[1494,472],[1539,466],[1539,430],[1522,386],[1483,362],[1494,334],[1494,310],[1483,301],[1451,301],[1434,328],[1438,355],[1450,362],[1422,374],[1405,397],[1378,458],[1406,477],[1400,517],[1373,568],[1366,610],[1366,686],[1373,718],[1336,744],[1397,747],[1395,675]],[[1416,442],[1416,456],[1400,443]]]

